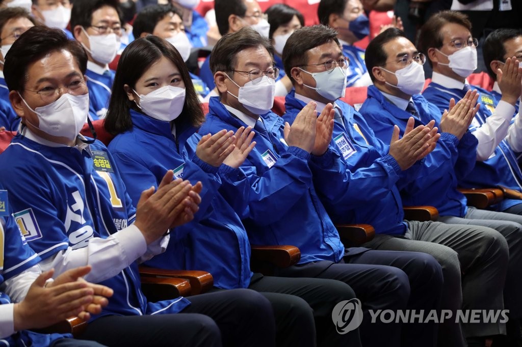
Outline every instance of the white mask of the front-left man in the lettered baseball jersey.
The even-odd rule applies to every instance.
[[[20,97],[22,96],[20,95]],[[49,105],[35,109],[32,109],[23,98],[22,101],[38,115],[40,125],[37,127],[30,123],[33,127],[46,134],[67,138],[70,141],[76,139],[89,114],[89,94],[72,95],[65,93]]]

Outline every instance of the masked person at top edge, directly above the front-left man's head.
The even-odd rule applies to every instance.
[[[31,12],[46,27],[60,29],[69,39],[74,39],[67,30],[72,7],[69,0],[32,0]]]

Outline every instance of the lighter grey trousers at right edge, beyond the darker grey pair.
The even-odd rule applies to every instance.
[[[473,224],[499,231],[509,246],[509,265],[504,286],[504,306],[509,317],[522,317],[522,216],[468,207],[464,218],[443,216],[439,218],[452,224]]]

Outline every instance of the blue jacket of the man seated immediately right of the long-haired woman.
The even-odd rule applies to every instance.
[[[244,126],[219,97],[210,98],[209,109],[200,134]],[[236,175],[222,177],[221,192],[243,219],[253,244],[297,246],[300,264],[340,261],[344,246],[315,192],[310,154],[281,140],[281,117],[269,112],[262,118],[266,131],[256,131],[257,144]]]

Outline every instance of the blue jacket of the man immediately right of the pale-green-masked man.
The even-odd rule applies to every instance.
[[[441,113],[436,106],[420,94],[412,98],[420,117],[415,125],[427,124],[435,119],[435,126],[438,127]],[[368,87],[368,97],[359,111],[384,143],[392,139],[394,125],[399,127],[402,136],[411,117],[407,111],[387,101],[375,86]],[[457,179],[472,170],[476,148],[477,139],[469,132],[460,141],[450,133],[442,133],[435,150],[426,156],[418,177],[401,188],[402,202],[406,206],[435,206],[441,216],[464,216],[467,201],[457,191]]]

